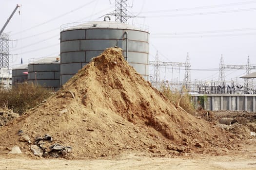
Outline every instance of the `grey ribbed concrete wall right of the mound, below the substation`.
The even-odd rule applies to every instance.
[[[205,110],[244,110],[256,112],[256,95],[192,94],[196,108],[203,105]],[[200,104],[200,101],[204,103]]]

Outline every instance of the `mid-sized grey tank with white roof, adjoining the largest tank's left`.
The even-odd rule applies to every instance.
[[[30,61],[28,64],[28,83],[59,89],[59,63],[59,57]]]

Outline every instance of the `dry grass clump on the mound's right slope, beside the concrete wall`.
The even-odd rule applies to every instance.
[[[168,84],[166,85],[164,82],[162,82],[159,86],[159,91],[162,92],[163,95],[176,107],[180,106],[186,112],[190,113],[191,115],[195,115],[196,109],[191,102],[191,96],[188,94],[185,87],[182,88],[182,92],[180,93],[177,89],[172,91]]]

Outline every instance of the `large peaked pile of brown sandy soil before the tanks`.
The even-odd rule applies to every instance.
[[[128,65],[119,48],[106,49],[57,94],[1,127],[1,153],[19,146],[32,155],[30,144],[20,141],[19,130],[32,143],[36,136],[52,136],[51,144],[71,146],[69,158],[75,159],[124,152],[221,153],[234,147],[228,133],[175,108]]]

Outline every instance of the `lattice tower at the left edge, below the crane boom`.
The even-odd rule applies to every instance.
[[[0,68],[9,70],[9,36],[0,34]]]

